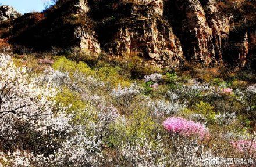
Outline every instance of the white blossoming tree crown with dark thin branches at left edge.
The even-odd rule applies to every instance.
[[[56,92],[48,84],[38,88],[35,78],[24,67],[16,68],[10,56],[0,55],[0,70],[0,118],[35,117],[51,111],[54,102],[49,99]]]

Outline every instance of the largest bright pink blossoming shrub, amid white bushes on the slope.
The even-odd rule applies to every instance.
[[[179,133],[183,136],[199,136],[200,139],[208,136],[208,130],[204,125],[180,117],[166,118],[163,126],[169,132]]]

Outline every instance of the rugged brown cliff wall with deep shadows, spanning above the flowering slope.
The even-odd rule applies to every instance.
[[[207,66],[253,62],[255,21],[236,31],[243,15],[225,14],[219,4],[215,0],[59,0],[41,13],[41,19],[13,31],[9,41],[34,48],[79,46],[119,57],[138,54],[162,68],[179,67],[185,60]],[[13,20],[13,30],[20,30],[17,27],[28,18],[22,17]]]

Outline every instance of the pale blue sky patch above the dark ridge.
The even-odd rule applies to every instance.
[[[18,12],[24,14],[31,11],[44,10],[45,0],[0,0],[0,4],[13,6]]]

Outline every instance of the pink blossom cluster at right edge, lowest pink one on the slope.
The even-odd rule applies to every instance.
[[[256,141],[253,140],[231,141],[231,144],[240,152],[249,151],[251,153],[256,151]]]

